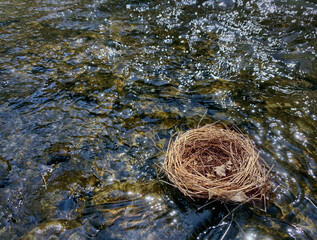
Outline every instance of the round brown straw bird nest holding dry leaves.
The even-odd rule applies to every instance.
[[[241,132],[206,125],[171,141],[164,171],[191,198],[245,203],[265,199],[269,168]]]

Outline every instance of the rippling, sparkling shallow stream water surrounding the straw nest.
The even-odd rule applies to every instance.
[[[317,239],[316,51],[313,0],[0,1],[0,238]],[[160,181],[202,118],[274,164],[267,212]]]

